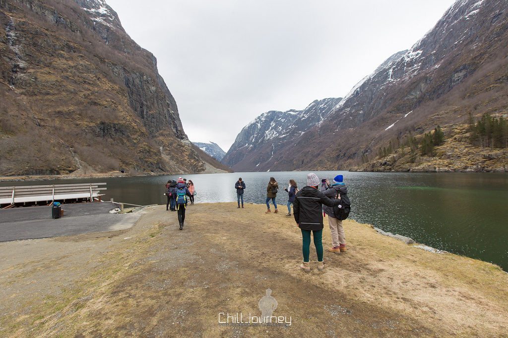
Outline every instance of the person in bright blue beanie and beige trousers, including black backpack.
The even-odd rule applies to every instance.
[[[326,197],[339,199],[341,203],[335,207],[324,206],[323,211],[328,215],[328,225],[332,234],[332,247],[328,249],[331,252],[346,251],[346,237],[342,220],[346,219],[351,210],[351,201],[347,197],[347,187],[344,185],[343,176],[337,175],[333,178],[333,183],[329,184],[326,180],[326,186],[321,188]]]

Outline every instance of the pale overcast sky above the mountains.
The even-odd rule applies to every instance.
[[[344,96],[453,0],[106,0],[152,52],[191,141],[226,152],[268,110]]]

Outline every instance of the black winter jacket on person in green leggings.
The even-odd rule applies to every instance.
[[[302,230],[319,231],[323,229],[323,204],[329,207],[339,205],[340,200],[332,200],[312,186],[304,186],[296,194],[293,203],[295,221]]]

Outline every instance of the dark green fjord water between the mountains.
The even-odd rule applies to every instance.
[[[352,200],[351,217],[387,232],[411,237],[437,249],[494,262],[508,271],[508,175],[504,173],[316,172],[330,180],[344,175]],[[234,184],[246,183],[245,203],[264,203],[270,176],[280,185],[277,204],[283,217],[290,178],[305,185],[307,172],[246,172],[183,175],[196,186],[196,203],[236,201]],[[2,182],[1,185],[107,182],[106,199],[140,205],[164,204],[165,183],[176,176],[144,176]],[[189,207],[192,213],[192,207]],[[225,212],[237,212],[236,208]],[[248,208],[248,205],[246,206]],[[273,207],[272,207],[273,208]],[[241,213],[248,217],[248,213]],[[168,213],[168,217],[176,217]],[[190,226],[190,224],[189,224]],[[213,227],[214,224],[210,224]],[[256,224],[252,224],[253,227]],[[325,220],[327,229],[327,220]],[[297,229],[295,229],[297,231]]]

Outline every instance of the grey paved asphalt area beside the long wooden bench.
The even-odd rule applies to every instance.
[[[51,218],[48,206],[0,210],[0,242],[124,230],[141,216],[110,214],[114,208],[110,202],[65,204],[59,219]]]

